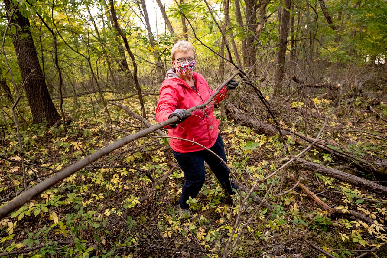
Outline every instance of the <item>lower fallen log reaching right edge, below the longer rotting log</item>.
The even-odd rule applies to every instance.
[[[324,165],[316,164],[301,158],[297,159],[295,162],[298,162],[304,169],[309,171],[317,172],[329,177],[339,179],[343,182],[348,182],[352,186],[358,186],[366,191],[372,191],[378,194],[384,194],[387,196],[387,187],[377,184],[374,181],[368,181],[356,175],[352,175],[346,172],[342,172],[335,168],[325,167]]]

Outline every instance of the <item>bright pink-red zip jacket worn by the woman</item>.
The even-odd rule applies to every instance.
[[[195,80],[197,91],[178,77],[173,72],[173,68],[167,72],[161,84],[160,98],[156,107],[157,122],[167,120],[176,109],[188,109],[204,103],[215,92],[215,89],[210,89],[204,77],[197,72],[192,74],[192,78]],[[206,108],[195,110],[190,117],[175,128],[166,126],[168,136],[192,140],[206,148],[212,147],[219,134],[219,120],[214,115],[214,104],[222,101],[226,95],[227,89],[224,87]],[[204,150],[197,144],[179,139],[170,138],[169,143],[172,150],[181,153]]]

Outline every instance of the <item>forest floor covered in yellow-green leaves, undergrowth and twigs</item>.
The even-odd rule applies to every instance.
[[[66,99],[63,108],[72,114],[67,129],[62,125],[49,129],[41,125],[23,127],[29,187],[144,128],[139,120],[113,105],[108,106],[112,120],[109,124],[96,96],[78,97],[77,103]],[[105,95],[105,99],[120,97]],[[145,97],[151,124],[156,124],[157,99]],[[279,134],[245,126],[247,118],[237,121],[228,114],[228,127],[222,126],[220,131],[232,174],[246,188],[241,191],[240,187],[233,197],[235,205],[228,205],[214,174],[207,170],[202,191],[189,201],[194,213],[190,220],[178,213],[183,173],[175,166],[167,139],[156,137],[156,133],[150,135],[155,137],[140,138],[4,218],[0,225],[0,256],[387,257],[384,188],[354,186],[320,172],[321,167],[311,169],[297,160],[279,170],[310,145],[290,131],[313,140],[321,130],[320,138],[326,139],[319,143],[324,145],[314,144],[301,159],[387,189],[384,163],[376,164],[387,160],[385,91],[373,88],[352,99],[337,108],[328,95],[312,96],[308,103],[289,97],[277,109],[286,117],[280,120],[282,129],[288,129],[284,142]],[[117,102],[140,114],[135,97]],[[243,99],[236,102],[244,115],[270,124],[271,119],[259,120],[254,115],[256,110],[244,103]],[[304,105],[308,105],[307,115]],[[220,108],[216,110],[220,117]],[[9,112],[5,108],[3,111]],[[28,112],[21,110],[25,117]],[[313,124],[305,122],[308,117]],[[301,130],[304,127],[307,132]],[[1,134],[0,193],[1,202],[6,203],[24,187],[12,119],[3,121]],[[324,151],[326,148],[330,151]],[[374,167],[370,167],[372,162]],[[257,186],[248,193],[254,183]]]

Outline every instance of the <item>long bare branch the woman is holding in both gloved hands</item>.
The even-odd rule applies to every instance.
[[[221,91],[221,89],[226,86],[226,84],[231,81],[235,76],[239,74],[239,71],[235,72],[233,75],[231,75],[226,81],[221,83],[214,94],[211,95],[211,97],[205,101],[205,103],[201,105],[197,105],[195,107],[189,108],[188,112],[193,112],[195,110],[205,108],[209,103],[215,98],[215,96]],[[163,128],[164,126],[167,126],[173,122],[177,122],[178,117],[172,117],[168,120],[165,120],[159,124],[155,124],[151,127],[148,127],[144,130],[141,130],[139,132],[136,132],[135,134],[128,135],[122,139],[119,139],[118,141],[115,141],[112,144],[109,144],[108,146],[105,146],[104,148],[88,155],[87,157],[83,158],[82,160],[79,160],[75,163],[72,163],[67,168],[60,170],[59,172],[55,173],[52,177],[45,179],[45,181],[40,182],[36,186],[28,189],[26,192],[24,192],[22,195],[18,196],[14,200],[10,201],[6,205],[2,206],[0,208],[0,220],[7,216],[10,212],[16,210],[17,208],[21,207],[31,199],[33,199],[35,196],[43,193],[43,191],[49,189],[50,187],[54,186],[55,184],[58,184],[63,179],[69,177],[70,175],[74,174],[75,172],[79,171],[80,169],[83,169],[90,163],[98,160],[99,158],[111,153],[114,150],[117,150],[118,148],[121,148],[122,146],[139,139],[141,137],[144,137],[152,132],[155,132],[156,130],[159,130]]]

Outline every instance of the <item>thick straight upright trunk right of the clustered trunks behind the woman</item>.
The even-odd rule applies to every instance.
[[[282,80],[284,78],[284,64],[286,57],[286,45],[289,34],[289,17],[291,0],[284,0],[285,9],[282,9],[281,25],[279,30],[279,47],[277,52],[277,67],[276,67],[276,85],[274,89],[274,96],[281,93]]]

